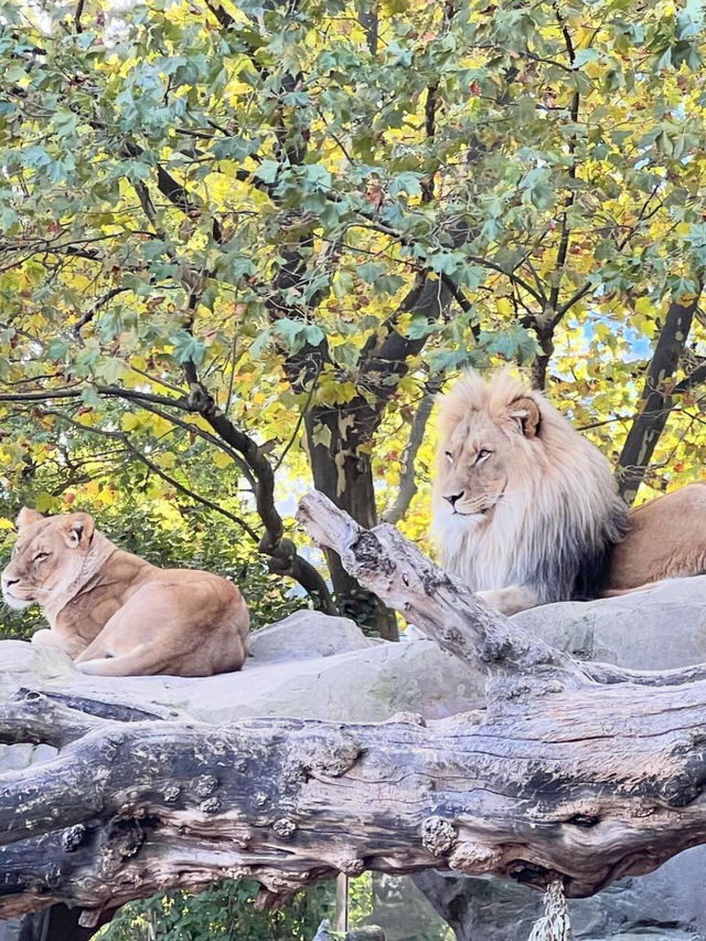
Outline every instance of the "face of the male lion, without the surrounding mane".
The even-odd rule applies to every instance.
[[[512,434],[484,412],[470,412],[448,430],[437,453],[437,514],[459,524],[492,514],[507,485]]]

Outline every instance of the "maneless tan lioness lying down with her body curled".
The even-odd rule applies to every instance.
[[[118,549],[86,512],[43,517],[24,507],[17,527],[2,596],[15,611],[42,605],[51,630],[33,643],[101,676],[211,676],[243,666],[249,617],[231,582],[158,569]]]

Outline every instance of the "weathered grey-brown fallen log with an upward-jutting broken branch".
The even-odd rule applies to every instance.
[[[365,869],[560,879],[581,896],[706,842],[704,667],[579,665],[393,527],[362,530],[318,494],[300,518],[362,583],[484,668],[486,710],[428,727],[411,713],[214,727],[22,691],[0,704],[0,741],[60,751],[0,775],[0,917],[63,901],[90,921],[240,875],[276,903]]]

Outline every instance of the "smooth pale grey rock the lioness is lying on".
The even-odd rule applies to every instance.
[[[235,674],[98,677],[79,673],[52,647],[3,641],[0,697],[20,687],[95,695],[204,722],[250,716],[379,722],[403,711],[440,719],[483,705],[482,676],[431,641],[376,643],[343,617],[300,612],[255,634],[252,649]]]

